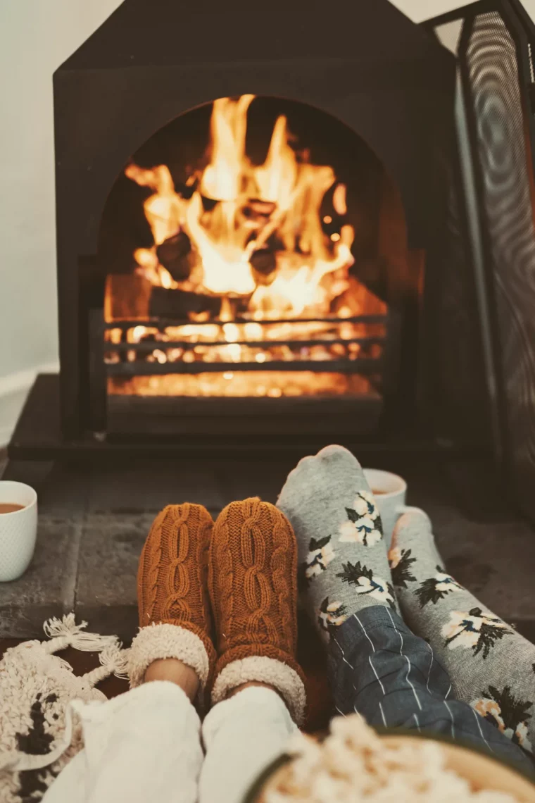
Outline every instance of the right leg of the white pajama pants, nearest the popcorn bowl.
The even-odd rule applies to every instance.
[[[202,726],[205,762],[199,803],[242,803],[297,730],[276,691],[249,687],[217,703]]]

